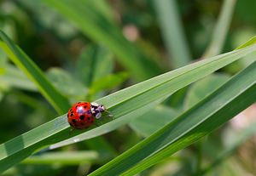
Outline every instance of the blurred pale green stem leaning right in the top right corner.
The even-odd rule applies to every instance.
[[[232,14],[235,7],[236,0],[224,0],[217,24],[212,34],[212,42],[207,48],[206,53],[203,55],[204,58],[212,57],[221,53],[230,28],[230,22],[232,20]]]

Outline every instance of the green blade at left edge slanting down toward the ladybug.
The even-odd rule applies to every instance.
[[[41,71],[1,30],[0,38],[3,41],[0,41],[0,48],[3,48],[3,51],[9,56],[9,59],[12,60],[21,71],[24,71],[27,77],[32,79],[32,82],[37,85],[41,94],[44,95],[58,113],[65,113],[69,108],[67,99],[55,89],[46,77],[44,77],[43,71]]]

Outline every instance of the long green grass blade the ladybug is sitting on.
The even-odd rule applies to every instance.
[[[201,60],[200,62],[167,72],[145,82],[138,83],[131,88],[125,88],[117,93],[98,99],[96,102],[106,105],[109,111],[113,113],[114,120],[100,127],[92,128],[85,133],[81,130],[69,133],[70,128],[67,123],[67,114],[65,114],[44,123],[38,128],[23,133],[15,137],[15,139],[10,139],[0,145],[0,172],[22,161],[37,150],[64,139],[72,138],[79,133],[82,133],[80,134],[82,137],[79,135],[76,139],[72,138],[69,144],[82,139],[90,139],[102,133],[108,133],[120,125],[131,121],[132,118],[141,116],[143,112],[150,110],[178,89],[207,76],[213,71],[217,71],[224,65],[228,65],[255,50],[256,46],[253,45],[227,54],[218,55],[212,59]],[[102,119],[102,122],[104,122],[104,119],[108,120],[106,117]]]

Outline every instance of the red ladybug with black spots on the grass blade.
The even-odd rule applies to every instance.
[[[104,105],[95,102],[78,102],[68,111],[67,122],[76,129],[89,128],[94,124],[95,118],[101,118],[104,111],[106,111]]]

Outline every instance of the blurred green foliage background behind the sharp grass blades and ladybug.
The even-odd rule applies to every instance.
[[[256,2],[253,0],[88,2],[84,3],[84,7],[73,3],[69,14],[63,14],[55,1],[0,0],[0,28],[46,73],[70,103],[98,99],[160,73],[228,52],[256,33]],[[211,53],[210,46],[214,45],[214,39],[221,37],[220,34],[215,36],[214,30],[217,30],[224,2],[232,4],[228,4],[230,9],[226,9],[230,10],[230,19],[224,22],[226,30],[223,29],[223,37],[217,42],[219,48]],[[68,1],[64,3],[68,4]],[[83,15],[73,15],[76,9]],[[218,74],[184,88],[173,99],[166,100],[165,105],[145,114],[137,122],[102,136],[106,140],[90,139],[49,151],[53,154],[67,152],[66,162],[58,162],[58,156],[45,163],[28,159],[3,175],[83,175],[91,172],[137,144],[151,130],[154,131],[151,127],[145,130],[140,128],[140,123],[147,121],[147,116],[160,116],[162,111],[176,116],[250,62],[250,57],[236,62],[218,71]],[[211,161],[212,155],[220,151],[228,139],[234,138],[230,136],[232,131],[252,122],[255,109],[253,106],[242,115],[247,117],[244,117],[246,120],[236,118],[236,121],[212,133],[204,139],[203,145],[193,145],[141,175],[193,173],[191,171],[195,170],[199,160]],[[49,117],[58,116],[35,85],[8,60],[2,50],[0,111],[0,143],[48,122],[51,120]],[[170,120],[166,118],[166,122]],[[104,143],[104,150],[98,147],[100,142]],[[87,153],[78,153],[80,150]],[[102,152],[105,156],[100,155]],[[83,155],[89,159],[81,162],[83,157],[79,156]],[[73,156],[78,162],[72,161]],[[224,164],[212,168],[209,175],[255,175],[254,156],[255,139],[250,139]]]

